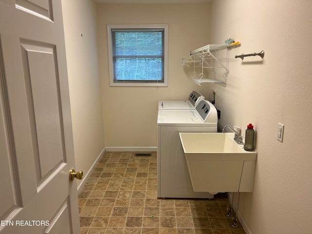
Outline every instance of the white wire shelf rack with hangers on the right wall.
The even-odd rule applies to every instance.
[[[196,50],[190,52],[189,60],[182,59],[182,64],[185,66],[187,63],[194,64],[194,72],[193,72],[193,81],[201,85],[201,83],[217,83],[222,86],[226,86],[226,77],[229,75],[228,63],[229,63],[229,49],[231,47],[239,46],[240,43],[236,44],[209,44],[203,47],[200,47]],[[225,58],[220,58],[216,56],[216,51],[227,49],[227,54]],[[211,59],[211,60],[209,60]],[[222,60],[222,61],[221,61]],[[210,61],[213,64],[210,64]],[[198,78],[196,78],[195,67],[201,68],[201,73]],[[212,68],[215,71],[215,68],[221,68],[225,70],[224,75],[222,76],[223,80],[219,79],[207,79],[203,78],[204,68]]]

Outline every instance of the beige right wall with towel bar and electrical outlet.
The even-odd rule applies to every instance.
[[[246,233],[312,232],[312,2],[213,0],[211,43],[233,38],[227,86],[217,89],[219,127],[253,123],[254,193],[242,193]],[[264,59],[234,59],[265,51]],[[261,62],[256,62],[256,61]],[[284,141],[276,139],[277,123]],[[235,195],[237,197],[237,195]]]

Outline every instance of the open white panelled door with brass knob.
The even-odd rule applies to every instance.
[[[78,234],[60,0],[0,0],[0,234]]]

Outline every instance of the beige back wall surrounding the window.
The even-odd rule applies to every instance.
[[[211,96],[207,86],[192,82],[193,70],[181,65],[190,50],[208,44],[210,3],[98,4],[97,9],[105,147],[156,147],[159,100],[184,100],[193,90]],[[139,23],[169,24],[168,87],[109,86],[106,25]]]

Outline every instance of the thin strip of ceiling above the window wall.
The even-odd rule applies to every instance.
[[[94,0],[97,3],[201,3],[211,2],[211,0]]]

